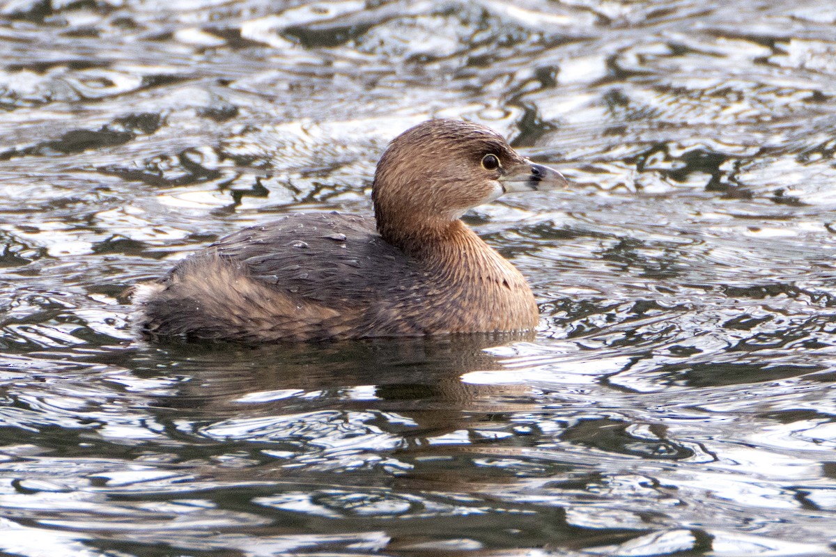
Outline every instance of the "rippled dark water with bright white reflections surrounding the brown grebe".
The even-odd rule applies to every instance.
[[[0,4],[0,553],[836,553],[836,4]],[[534,340],[152,346],[135,281],[489,124]]]

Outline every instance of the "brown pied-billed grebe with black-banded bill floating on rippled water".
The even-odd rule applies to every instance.
[[[245,342],[520,332],[523,275],[459,217],[512,191],[566,185],[478,124],[432,119],[375,170],[375,221],[298,214],[228,235],[140,292],[152,336]]]

